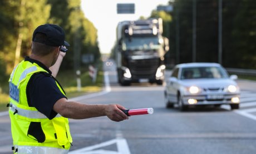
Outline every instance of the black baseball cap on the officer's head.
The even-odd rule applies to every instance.
[[[45,34],[46,39],[35,38],[37,33]],[[64,30],[56,24],[43,24],[38,26],[33,33],[32,40],[33,42],[43,43],[51,47],[61,47],[62,45],[66,47],[70,46],[70,44],[65,41]]]

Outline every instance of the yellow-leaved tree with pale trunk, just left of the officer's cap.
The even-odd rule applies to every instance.
[[[17,2],[19,9],[17,14],[14,14],[14,18],[17,22],[16,26],[18,29],[18,38],[14,66],[19,63],[21,48],[23,48],[23,55],[28,55],[31,51],[33,30],[38,26],[38,24],[40,25],[46,23],[48,17],[50,16],[49,12],[51,9],[51,6],[46,4],[46,0],[20,0]],[[24,42],[23,45],[22,42]]]

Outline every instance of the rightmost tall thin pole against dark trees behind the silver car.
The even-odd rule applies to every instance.
[[[218,63],[222,63],[222,0],[219,0],[219,56]]]

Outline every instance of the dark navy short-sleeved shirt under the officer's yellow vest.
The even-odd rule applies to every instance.
[[[25,61],[36,63],[48,73],[52,74],[40,61],[29,57],[26,57]],[[57,112],[53,110],[55,102],[61,98],[66,98],[58,88],[56,79],[45,73],[36,73],[31,76],[27,84],[26,93],[28,105],[36,107],[38,111],[47,116],[50,120],[57,115]]]

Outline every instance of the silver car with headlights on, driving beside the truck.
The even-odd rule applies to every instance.
[[[237,75],[228,75],[217,63],[176,65],[165,86],[166,107],[178,104],[181,111],[189,106],[229,104],[239,109],[240,90]]]

